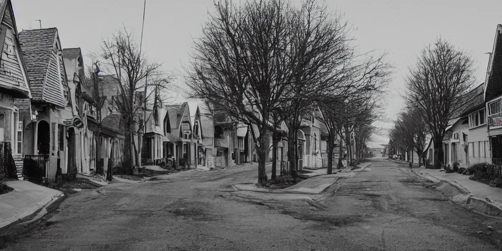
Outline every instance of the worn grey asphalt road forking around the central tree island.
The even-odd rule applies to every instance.
[[[499,250],[502,221],[373,159],[316,196],[235,192],[256,166],[81,191],[5,250]],[[494,229],[488,230],[490,225]],[[477,233],[483,231],[483,233]],[[0,245],[2,246],[2,245]]]

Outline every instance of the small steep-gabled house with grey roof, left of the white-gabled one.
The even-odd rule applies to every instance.
[[[163,153],[166,165],[194,166],[191,159],[192,126],[188,103],[166,105],[164,115]]]

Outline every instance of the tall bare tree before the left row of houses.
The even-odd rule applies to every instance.
[[[160,70],[161,64],[148,59],[131,32],[126,28],[118,31],[109,39],[101,42],[100,58],[106,70],[116,76],[118,82],[115,107],[125,121],[124,168],[132,173],[133,149],[136,165],[141,167],[141,146],[145,128],[149,118],[144,117],[143,110],[150,100],[158,101],[159,94],[166,88],[170,79],[165,78]],[[138,136],[138,145],[134,136]]]

